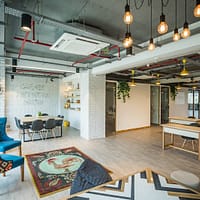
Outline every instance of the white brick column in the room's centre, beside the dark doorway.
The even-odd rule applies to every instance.
[[[96,76],[91,70],[81,71],[81,126],[85,139],[105,137],[105,75]]]

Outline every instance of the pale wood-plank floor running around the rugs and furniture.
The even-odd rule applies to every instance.
[[[105,139],[85,140],[79,137],[79,131],[64,128],[62,138],[23,143],[23,154],[54,150],[75,146],[82,152],[113,171],[113,178],[132,174],[144,168],[151,168],[166,176],[177,169],[192,172],[200,177],[200,161],[197,156],[176,149],[161,149],[161,128],[151,127],[124,132]],[[17,137],[18,134],[10,133]],[[179,138],[177,141],[180,142]],[[182,142],[182,141],[181,141]],[[8,153],[17,154],[17,150]],[[42,199],[59,200],[69,191],[59,192]],[[0,200],[37,200],[35,188],[27,165],[25,181],[20,181],[20,168],[13,169],[6,177],[0,176]]]

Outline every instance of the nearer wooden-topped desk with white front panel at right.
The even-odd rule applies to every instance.
[[[174,123],[168,123],[168,124],[162,124],[163,132],[162,132],[162,149],[164,150],[165,147],[173,147],[176,149],[180,149],[183,151],[187,151],[189,153],[196,154],[198,156],[198,159],[200,160],[200,127],[196,126],[187,126],[183,124],[174,124]],[[165,144],[165,134],[169,133],[171,134],[171,143]],[[180,135],[180,136],[186,136],[198,139],[198,152],[186,150],[177,146],[174,146],[174,135]]]

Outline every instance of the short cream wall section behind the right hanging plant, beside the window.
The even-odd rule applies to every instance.
[[[187,117],[188,116],[188,89],[182,88],[179,90],[175,101],[173,101],[170,97],[169,100],[169,116],[179,116],[179,117]]]

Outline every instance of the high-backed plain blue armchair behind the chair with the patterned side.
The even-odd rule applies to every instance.
[[[6,134],[6,117],[0,117],[0,152],[5,153],[6,151],[15,147],[19,148],[19,155],[22,155],[21,141],[14,140]]]

